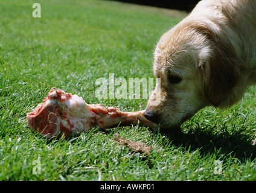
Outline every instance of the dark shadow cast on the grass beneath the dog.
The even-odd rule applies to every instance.
[[[256,159],[256,145],[251,144],[251,134],[243,130],[228,131],[225,128],[216,132],[216,128],[189,129],[187,133],[176,131],[162,133],[171,141],[185,149],[198,150],[202,154],[230,154],[242,162]]]

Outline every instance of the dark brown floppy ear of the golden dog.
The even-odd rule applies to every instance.
[[[229,95],[235,94],[232,91],[241,81],[244,66],[228,50],[215,46],[208,57],[199,59],[199,66],[205,95],[211,104],[218,107]]]

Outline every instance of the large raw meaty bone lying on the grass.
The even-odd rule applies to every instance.
[[[87,104],[82,97],[53,87],[43,103],[27,113],[27,121],[33,131],[46,138],[59,133],[66,137],[91,128],[113,128],[125,125],[144,125],[156,130],[158,125],[144,117],[144,110],[121,112],[117,107]]]

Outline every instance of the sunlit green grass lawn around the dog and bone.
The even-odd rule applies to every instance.
[[[64,140],[32,133],[26,113],[53,86],[88,103],[144,109],[147,100],[98,100],[95,80],[109,73],[152,78],[156,41],[182,19],[115,1],[37,2],[41,18],[32,17],[34,1],[0,2],[0,180],[256,180],[255,87],[231,109],[200,110],[182,133],[137,125]],[[151,145],[151,153],[132,153],[114,141],[116,133]]]

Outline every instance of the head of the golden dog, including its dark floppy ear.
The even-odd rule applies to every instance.
[[[206,25],[180,24],[165,33],[153,71],[161,81],[144,115],[164,129],[179,128],[205,106],[231,106],[243,94],[242,63]]]

